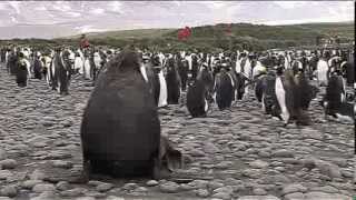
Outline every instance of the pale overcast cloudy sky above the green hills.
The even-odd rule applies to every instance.
[[[354,21],[354,1],[1,1],[1,38],[218,22]]]

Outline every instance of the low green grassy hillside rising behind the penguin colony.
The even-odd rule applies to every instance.
[[[187,41],[178,41],[178,29],[136,29],[108,32],[87,33],[90,43],[95,46],[122,47],[135,43],[141,48],[160,50],[179,50],[198,48],[202,50],[249,49],[265,50],[271,48],[287,48],[316,44],[317,37],[337,34],[343,42],[354,41],[355,23],[305,23],[291,26],[264,26],[251,23],[231,24],[231,34],[226,34],[227,24],[194,27],[191,37]],[[75,44],[79,37],[53,39],[56,44]],[[23,41],[17,41],[22,42]],[[39,44],[38,41],[29,43]],[[40,42],[41,43],[41,42]]]

